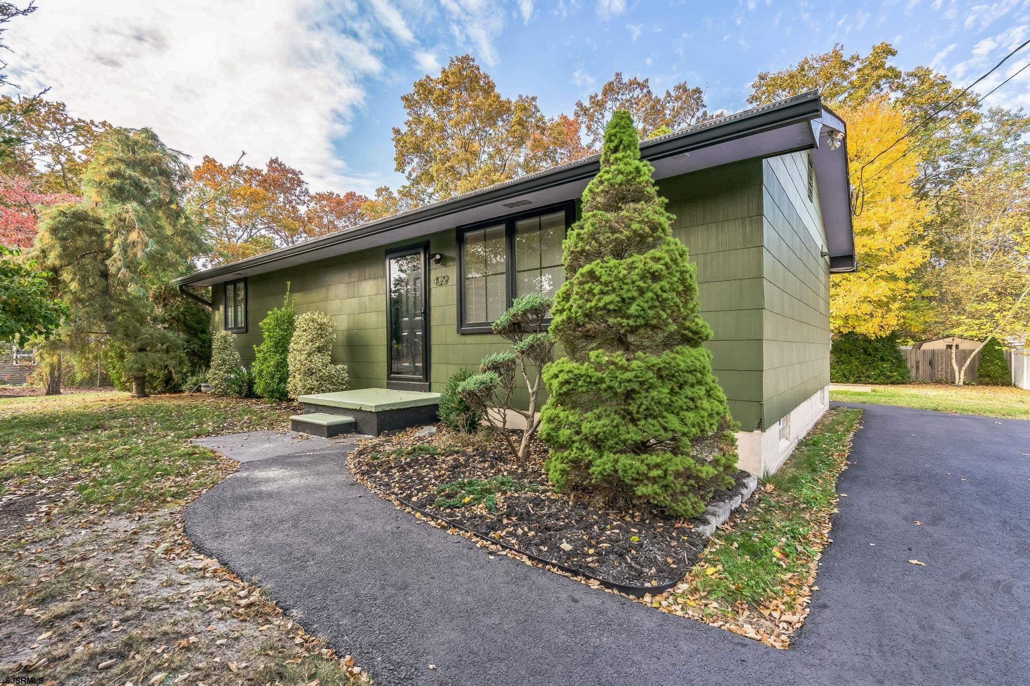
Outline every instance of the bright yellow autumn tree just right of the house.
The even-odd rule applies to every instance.
[[[853,175],[904,130],[902,112],[883,97],[844,106],[838,113],[848,122],[848,164]],[[915,154],[904,154],[905,145],[902,141],[890,155],[862,171],[854,218],[858,270],[835,275],[830,281],[834,334],[855,331],[884,336],[906,324],[917,294],[913,277],[928,256],[923,228],[929,208],[913,189],[919,160]]]

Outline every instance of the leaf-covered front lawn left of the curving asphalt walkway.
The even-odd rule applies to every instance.
[[[235,469],[187,441],[290,413],[201,395],[0,398],[0,678],[364,680],[183,534],[184,505]]]

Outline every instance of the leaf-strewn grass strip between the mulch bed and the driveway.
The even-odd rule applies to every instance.
[[[827,412],[786,465],[716,532],[683,582],[644,602],[786,648],[817,589],[836,480],[861,414],[847,407]]]

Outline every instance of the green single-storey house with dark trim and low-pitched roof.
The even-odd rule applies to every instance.
[[[829,279],[856,268],[845,122],[817,93],[641,143],[697,264],[713,367],[741,467],[776,471],[826,411]],[[353,389],[439,392],[505,347],[489,323],[512,298],[554,293],[561,241],[598,155],[213,267],[212,326],[245,361],[291,284],[299,313],[337,322]]]

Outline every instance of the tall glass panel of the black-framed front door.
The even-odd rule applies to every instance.
[[[389,371],[424,378],[425,302],[422,255],[389,258]]]

